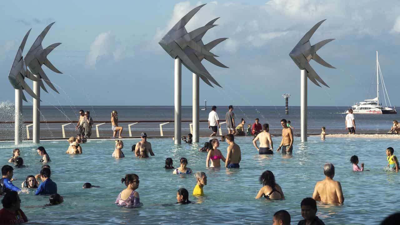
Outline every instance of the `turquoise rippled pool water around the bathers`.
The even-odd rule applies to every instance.
[[[201,143],[208,139],[200,139]],[[275,148],[280,138],[272,139]],[[329,138],[320,141],[309,137],[302,144],[295,138],[292,156],[281,154],[258,155],[251,138],[237,138],[242,149],[240,169],[207,169],[206,153],[198,151],[197,144],[175,146],[172,139],[149,139],[155,157],[134,157],[131,146],[138,140],[125,140],[123,159],[113,159],[113,141],[89,141],[82,145],[82,155],[65,154],[66,141],[42,142],[52,162],[52,180],[58,185],[58,193],[64,203],[46,208],[25,208],[28,205],[44,205],[48,196],[34,196],[33,192],[21,193],[22,210],[32,224],[272,224],[272,215],[287,210],[292,224],[301,217],[300,201],[311,197],[316,181],[324,179],[323,165],[333,163],[335,180],[342,184],[344,205],[318,203],[318,217],[326,224],[378,224],[398,208],[399,174],[384,169],[387,165],[385,149],[394,147],[400,151],[399,141],[392,139]],[[36,145],[21,145],[21,157],[26,168],[14,170],[14,185],[20,187],[27,175],[40,172],[42,163]],[[226,156],[226,143],[220,150]],[[0,161],[5,163],[12,156],[12,143],[0,143]],[[358,155],[360,163],[370,171],[353,172],[350,157]],[[179,167],[180,157],[188,159],[188,167],[204,171],[208,183],[204,197],[191,195],[196,180],[193,175],[172,175],[164,162],[171,157]],[[268,201],[254,199],[261,185],[258,177],[270,170],[282,187],[286,199]],[[138,209],[124,209],[114,201],[125,186],[120,182],[126,173],[136,173],[140,178]],[[85,182],[100,188],[82,189]],[[197,204],[162,205],[176,202],[176,191],[184,187],[189,199]],[[28,223],[29,224],[29,223]]]

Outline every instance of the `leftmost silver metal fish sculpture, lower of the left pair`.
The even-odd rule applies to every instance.
[[[30,29],[31,30],[31,29]],[[15,89],[22,89],[28,92],[30,96],[39,100],[38,96],[32,91],[32,89],[26,84],[25,77],[38,81],[36,78],[26,67],[25,60],[22,57],[22,52],[24,51],[26,39],[28,39],[30,30],[25,34],[24,39],[21,42],[20,47],[18,48],[17,54],[15,56],[14,62],[12,63],[10,73],[8,73],[8,80],[10,80],[11,85]],[[22,92],[22,99],[27,102],[24,92]]]

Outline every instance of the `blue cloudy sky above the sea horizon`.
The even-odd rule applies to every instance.
[[[14,102],[7,76],[26,32],[32,28],[23,55],[56,22],[43,46],[62,43],[48,59],[63,74],[42,68],[60,94],[42,91],[42,105],[173,105],[174,60],[158,42],[182,16],[204,3],[186,29],[220,17],[203,41],[229,38],[212,49],[229,68],[203,61],[222,88],[200,80],[200,104],[207,99],[208,105],[280,106],[282,94],[290,93],[289,104],[300,105],[300,71],[289,52],[326,19],[310,42],[336,39],[318,50],[336,69],[310,62],[330,88],[308,81],[308,105],[351,106],[374,98],[376,51],[391,104],[400,105],[396,0],[1,1],[0,102]],[[192,73],[186,68],[182,105],[192,105]]]

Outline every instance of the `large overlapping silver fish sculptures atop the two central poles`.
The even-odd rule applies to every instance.
[[[192,9],[188,14],[182,17],[171,30],[158,42],[160,46],[172,57],[172,58],[180,58],[182,64],[188,68],[191,72],[198,74],[200,78],[206,82],[208,85],[212,86],[212,84],[208,81],[210,80],[217,86],[220,86],[218,82],[210,75],[210,73],[204,68],[201,64],[199,58],[193,57],[195,54],[187,54],[191,53],[191,50],[196,52],[196,54],[216,57],[216,55],[210,52],[210,49],[207,50],[206,46],[199,44],[194,39],[201,34],[205,33],[207,30],[213,28],[214,24],[209,24],[206,26],[202,26],[193,30],[191,32],[187,32],[185,26],[189,22],[189,20],[206,4],[202,4]],[[204,34],[203,34],[204,35]],[[201,39],[201,38],[200,38]],[[190,49],[186,49],[190,48]],[[221,86],[220,86],[221,87]]]

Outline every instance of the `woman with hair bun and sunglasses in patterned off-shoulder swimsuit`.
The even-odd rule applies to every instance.
[[[114,204],[126,208],[136,208],[143,205],[140,203],[139,193],[136,191],[139,188],[138,175],[134,173],[126,174],[121,179],[121,183],[125,184],[126,189],[120,192]]]

